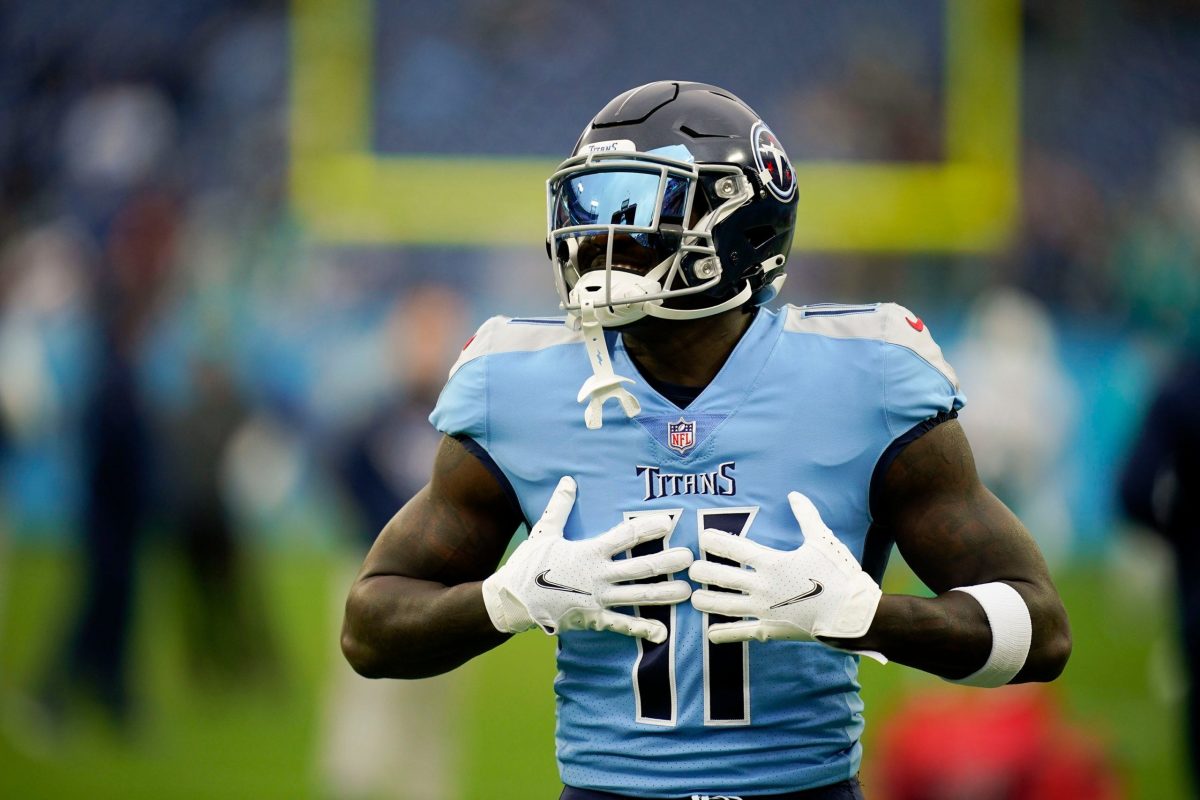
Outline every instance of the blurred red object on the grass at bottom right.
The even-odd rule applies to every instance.
[[[1040,688],[917,694],[887,721],[866,783],[880,800],[1120,800],[1104,748]]]

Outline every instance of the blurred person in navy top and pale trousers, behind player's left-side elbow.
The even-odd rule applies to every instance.
[[[348,579],[376,535],[425,485],[440,439],[428,416],[445,383],[445,365],[466,338],[466,301],[446,285],[416,285],[391,311],[385,331],[391,391],[348,432],[334,465],[358,523]],[[338,620],[343,600],[338,593]],[[371,681],[337,658],[331,681],[320,753],[328,796],[458,796],[456,673]]]

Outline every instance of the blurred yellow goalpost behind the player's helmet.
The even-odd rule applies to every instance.
[[[941,162],[796,162],[800,251],[982,252],[1018,204],[1019,0],[946,0]],[[535,245],[557,160],[371,151],[371,0],[292,1],[290,201],[331,243]],[[503,197],[458,223],[456,187]]]

